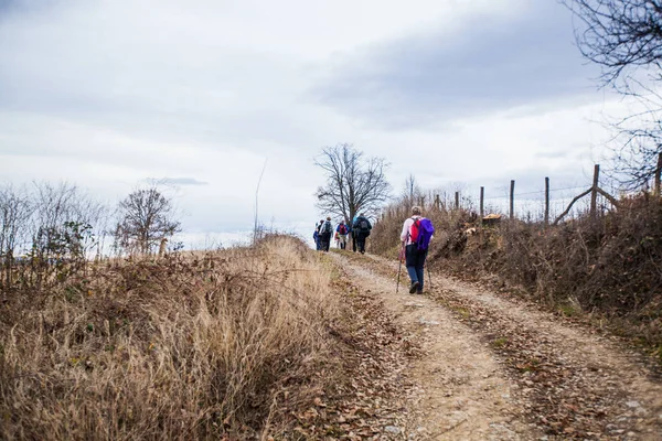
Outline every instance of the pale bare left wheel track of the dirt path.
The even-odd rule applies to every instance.
[[[392,281],[333,252],[360,289],[378,294],[398,325],[418,335],[423,355],[409,366],[418,385],[408,399],[402,431],[410,440],[532,440],[543,433],[527,424],[512,384],[476,333],[431,299],[395,293]]]

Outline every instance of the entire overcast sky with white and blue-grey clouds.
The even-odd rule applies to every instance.
[[[396,191],[590,182],[622,108],[597,75],[556,0],[0,0],[0,181],[115,204],[168,179],[190,237],[227,240],[266,161],[260,220],[308,235],[339,142]]]

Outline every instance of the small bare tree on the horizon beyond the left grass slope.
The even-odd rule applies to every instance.
[[[116,246],[129,251],[150,254],[162,239],[180,232],[172,201],[157,186],[136,190],[119,203],[115,228]]]

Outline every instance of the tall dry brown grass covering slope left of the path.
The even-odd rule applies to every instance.
[[[271,236],[6,295],[0,439],[278,438],[331,380],[330,277]]]

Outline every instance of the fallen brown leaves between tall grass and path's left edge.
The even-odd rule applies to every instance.
[[[334,281],[334,289],[346,314],[329,331],[338,340],[344,375],[313,406],[292,415],[293,432],[307,440],[405,439],[399,427],[412,390],[406,367],[417,356],[417,345],[394,325],[376,295],[344,277]]]

